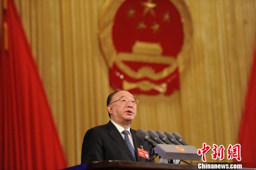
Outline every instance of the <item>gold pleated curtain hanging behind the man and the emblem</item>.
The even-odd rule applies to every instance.
[[[105,0],[15,2],[68,165],[80,164],[84,133],[109,121],[106,98],[113,89],[98,40]],[[193,40],[181,89],[171,96],[136,95],[140,103],[132,128],[176,131],[198,148],[203,142],[228,148],[237,143],[256,45],[256,0],[184,2]],[[210,152],[207,159],[213,161]]]

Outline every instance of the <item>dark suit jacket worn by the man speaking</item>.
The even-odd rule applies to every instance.
[[[148,143],[139,139],[135,130],[130,129],[130,132],[135,148],[136,160],[133,158],[132,153],[116,126],[109,122],[107,125],[100,125],[89,129],[84,135],[82,163],[106,160],[149,161],[138,156],[137,151],[137,148],[140,148],[140,145],[142,145],[144,150],[150,153]]]

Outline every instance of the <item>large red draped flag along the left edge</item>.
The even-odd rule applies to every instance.
[[[0,46],[0,169],[67,166],[37,65],[13,0],[4,0]]]

